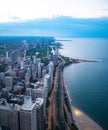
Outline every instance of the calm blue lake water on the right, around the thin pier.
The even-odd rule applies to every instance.
[[[103,62],[72,64],[64,77],[73,105],[108,130],[108,39],[72,38],[62,41],[60,53],[72,58]]]

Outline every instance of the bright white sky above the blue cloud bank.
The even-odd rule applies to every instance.
[[[108,17],[108,0],[0,0],[0,23],[56,16]]]

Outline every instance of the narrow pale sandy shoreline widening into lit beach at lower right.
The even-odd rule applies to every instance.
[[[64,65],[64,68],[66,66]],[[72,121],[77,126],[78,130],[104,130],[98,123],[96,123],[88,115],[86,115],[84,112],[80,111],[78,108],[72,105],[72,98],[69,92],[69,88],[66,84],[64,75],[63,75],[63,82],[64,82],[64,88],[65,88],[69,105],[70,105],[70,109],[71,109]]]

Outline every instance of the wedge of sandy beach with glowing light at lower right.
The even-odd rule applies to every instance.
[[[72,106],[72,113],[79,130],[103,130],[96,122]]]

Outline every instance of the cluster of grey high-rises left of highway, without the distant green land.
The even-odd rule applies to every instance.
[[[57,53],[47,66],[26,49],[6,52],[0,72],[0,130],[44,130],[48,92],[52,88]],[[57,52],[57,51],[56,51]]]

